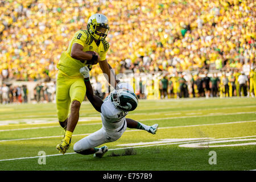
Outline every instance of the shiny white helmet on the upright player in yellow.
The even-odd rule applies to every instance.
[[[103,14],[90,16],[87,23],[87,30],[95,40],[104,40],[109,32],[109,20]]]

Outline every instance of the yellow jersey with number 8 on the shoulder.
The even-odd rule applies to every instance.
[[[106,52],[108,52],[109,43],[106,42],[106,40],[101,40],[99,46],[97,46],[92,35],[90,35],[87,30],[79,30],[75,33],[71,42],[69,42],[68,49],[61,53],[59,63],[57,63],[57,68],[61,73],[64,73],[65,76],[82,77],[79,71],[80,68],[85,65],[88,66],[86,64],[86,60],[82,63],[80,60],[76,60],[71,57],[71,49],[75,43],[84,47],[82,51],[98,52],[102,61],[106,59]],[[89,65],[89,68],[92,68],[92,65]]]

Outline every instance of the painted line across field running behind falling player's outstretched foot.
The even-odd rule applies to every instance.
[[[197,127],[197,126],[213,126],[213,125],[230,125],[230,124],[247,123],[247,122],[256,122],[256,120],[225,122],[225,123],[209,123],[209,124],[202,124],[202,125],[167,126],[167,127],[159,127],[158,129],[173,129],[173,128],[179,128],[179,127]],[[134,130],[126,130],[125,132],[133,132],[133,131],[144,131],[144,130],[134,129]],[[73,135],[73,137],[89,135],[89,134],[92,134],[92,133],[75,134]],[[43,138],[59,138],[59,137],[61,136],[59,135],[59,136],[49,136],[49,137],[18,138],[18,139],[0,140],[0,142],[11,142],[11,141],[18,141],[18,140],[32,140],[32,139],[43,139]]]

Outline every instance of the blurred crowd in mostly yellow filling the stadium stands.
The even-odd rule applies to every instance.
[[[256,66],[255,3],[252,0],[1,1],[1,79],[3,82],[55,80],[56,64],[68,40],[77,30],[86,28],[90,15],[102,13],[108,16],[110,24],[107,59],[117,73],[167,72],[168,85],[170,88],[173,85],[168,93],[174,93],[175,97],[180,97],[177,94],[180,89],[178,84],[174,86],[173,80],[177,79],[174,77],[183,78],[182,73],[188,71],[245,72],[250,81],[250,68]],[[93,77],[101,73],[98,65],[91,72]],[[199,76],[192,77],[195,83],[200,82]],[[190,78],[188,82],[188,88],[192,89]],[[202,84],[195,85],[200,90],[199,96],[205,96]],[[192,90],[185,95],[191,93]]]

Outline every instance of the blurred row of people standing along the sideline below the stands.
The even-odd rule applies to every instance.
[[[135,94],[140,99],[166,99],[166,98],[193,98],[193,97],[234,97],[234,96],[256,96],[256,71],[251,69],[250,75],[245,72],[238,72],[237,69],[231,72],[220,73],[186,73],[175,72],[169,75],[168,72],[156,76],[151,81],[146,80],[144,75],[136,75],[139,79],[132,78]],[[104,83],[93,78],[92,86],[94,94],[104,99],[108,96],[110,89],[104,88]],[[134,80],[137,80],[134,81]],[[156,84],[154,83],[156,82]],[[56,94],[56,82],[38,82],[34,87],[31,101],[54,102]],[[85,98],[86,100],[86,98]],[[26,85],[0,85],[0,103],[27,103],[28,89]]]

